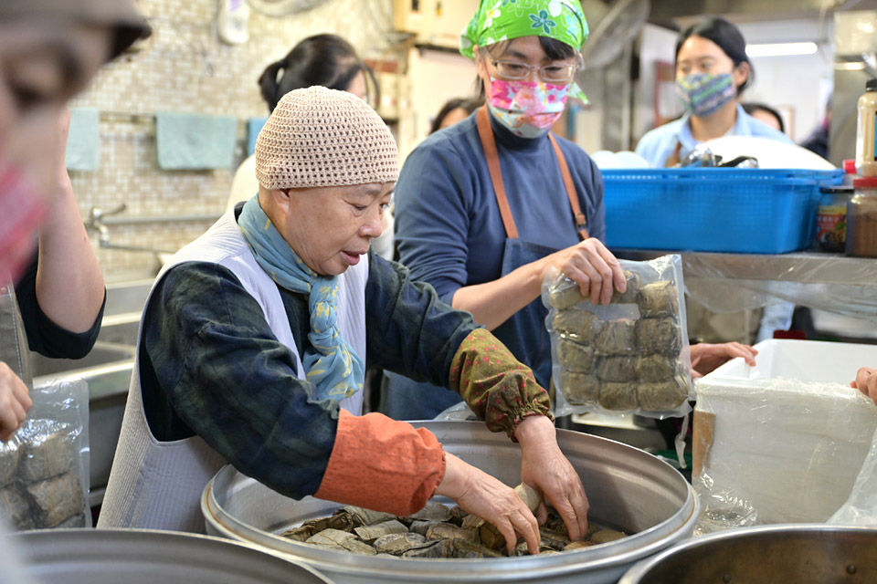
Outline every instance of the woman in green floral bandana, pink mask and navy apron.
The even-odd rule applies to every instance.
[[[601,240],[603,183],[594,162],[549,132],[569,96],[587,36],[576,0],[482,0],[460,38],[486,105],[431,135],[396,186],[400,261],[439,297],[468,310],[548,386],[551,347],[538,299],[549,266],[595,303],[624,290]],[[459,400],[386,374],[381,409],[433,418]]]

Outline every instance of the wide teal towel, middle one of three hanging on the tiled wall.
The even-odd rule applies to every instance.
[[[158,166],[165,171],[231,168],[237,141],[238,120],[229,116],[155,114]]]

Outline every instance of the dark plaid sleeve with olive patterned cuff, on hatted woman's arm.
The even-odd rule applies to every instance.
[[[492,432],[512,436],[525,417],[550,415],[548,393],[502,341],[468,312],[440,302],[432,287],[410,282],[404,266],[374,256],[371,262],[369,366],[457,391]]]

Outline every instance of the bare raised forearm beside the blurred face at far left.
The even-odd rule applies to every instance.
[[[84,332],[103,304],[103,275],[66,172],[59,176],[57,188],[46,222],[39,228],[37,302],[59,327]]]

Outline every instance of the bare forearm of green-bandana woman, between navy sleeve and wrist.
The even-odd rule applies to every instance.
[[[539,297],[543,272],[541,262],[533,262],[498,280],[461,287],[451,306],[469,311],[475,322],[493,330]]]

